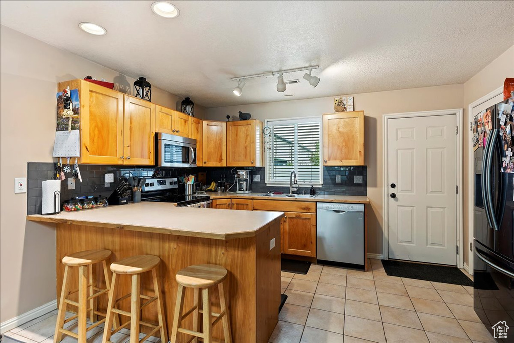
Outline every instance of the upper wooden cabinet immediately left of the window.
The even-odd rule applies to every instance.
[[[227,166],[264,166],[261,121],[252,119],[227,122]]]

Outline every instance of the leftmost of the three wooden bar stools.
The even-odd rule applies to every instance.
[[[56,332],[53,336],[53,342],[59,343],[63,334],[75,337],[79,340],[79,343],[86,343],[87,331],[96,328],[105,321],[105,318],[96,322],[98,315],[105,317],[105,313],[98,312],[97,310],[97,298],[102,294],[109,292],[111,285],[109,283],[109,275],[107,269],[106,260],[111,256],[111,250],[84,250],[75,252],[74,254],[63,257],[62,263],[64,267],[64,278],[63,287],[61,290],[61,298],[59,302],[59,311],[57,313]],[[93,279],[93,266],[96,263],[102,262],[103,273],[105,277],[106,288],[98,288],[96,284],[96,278]],[[79,267],[79,288],[78,290],[69,291],[70,286],[70,270],[69,267]],[[89,279],[89,280],[88,280]],[[89,290],[89,296],[87,291]],[[95,293],[95,291],[98,291]],[[71,301],[68,299],[69,295],[79,293],[78,301]],[[87,305],[89,302],[89,307]],[[77,315],[71,318],[65,319],[67,306],[72,305],[78,308]],[[93,326],[86,328],[87,326],[87,313],[89,313],[89,319]],[[78,334],[64,329],[64,324],[78,318],[79,331]]]

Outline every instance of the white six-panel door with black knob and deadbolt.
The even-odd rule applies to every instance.
[[[389,258],[457,264],[455,115],[388,119]]]

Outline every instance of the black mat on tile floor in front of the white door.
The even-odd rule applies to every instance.
[[[453,266],[396,260],[382,260],[382,265],[389,276],[473,286],[473,281],[459,268]]]

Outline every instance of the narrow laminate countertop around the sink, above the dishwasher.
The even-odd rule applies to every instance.
[[[346,203],[346,204],[369,204],[370,200],[367,196],[346,196],[346,195],[317,195],[313,198],[297,198],[297,197],[280,197],[280,196],[262,196],[266,193],[217,193],[207,192],[211,200],[241,198],[252,200],[278,200],[278,201],[299,201],[309,203]]]

